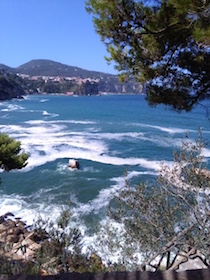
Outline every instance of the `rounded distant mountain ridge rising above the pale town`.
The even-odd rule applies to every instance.
[[[79,77],[98,79],[107,76],[114,76],[96,71],[89,71],[75,66],[69,66],[60,62],[55,62],[47,59],[31,60],[16,68],[16,71],[21,74],[30,76],[60,76],[60,77]]]

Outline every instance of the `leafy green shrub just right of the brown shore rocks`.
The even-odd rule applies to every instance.
[[[82,253],[81,232],[71,225],[69,208],[62,210],[56,222],[40,218],[34,226],[42,236],[41,249],[37,251],[34,263],[39,271],[57,274],[64,272],[99,272],[105,270],[96,255],[87,257]]]

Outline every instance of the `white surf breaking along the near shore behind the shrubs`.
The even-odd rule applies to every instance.
[[[110,252],[110,248],[108,246],[108,243],[105,242],[103,246],[101,246],[99,240],[98,234],[103,235],[103,240],[106,240],[108,238],[107,232],[104,231],[104,228],[106,227],[106,224],[110,224],[112,230],[114,230],[118,236],[118,238],[122,238],[123,233],[123,226],[119,223],[116,223],[115,221],[111,220],[109,217],[104,218],[100,224],[100,232],[98,234],[88,235],[87,234],[87,227],[80,219],[80,215],[84,214],[86,211],[90,212],[91,210],[94,210],[94,206],[98,206],[98,202],[102,200],[102,196],[104,192],[102,192],[98,199],[96,199],[92,205],[91,204],[84,204],[83,206],[80,206],[79,208],[72,209],[73,213],[73,221],[71,221],[70,226],[71,227],[78,227],[79,230],[82,233],[82,244],[83,248],[82,251],[86,254],[91,253],[92,251],[95,251],[101,258],[104,264],[108,264],[109,261],[115,263],[118,261],[118,259],[121,258],[121,252],[119,251],[119,248],[115,248],[114,251]],[[107,197],[109,193],[107,192]],[[72,201],[74,201],[74,198],[72,197]],[[34,222],[39,218],[42,217],[45,219],[50,219],[53,222],[56,221],[56,219],[59,217],[62,207],[58,205],[53,204],[27,204],[24,200],[24,197],[18,196],[18,195],[10,195],[10,196],[0,196],[0,215],[4,215],[7,212],[11,212],[15,215],[15,217],[21,218],[24,222],[26,222],[27,225],[33,225]],[[104,205],[104,204],[103,204]],[[79,210],[79,211],[78,211]],[[76,217],[76,220],[75,220]],[[114,241],[114,240],[113,240]],[[123,238],[122,238],[123,242]]]

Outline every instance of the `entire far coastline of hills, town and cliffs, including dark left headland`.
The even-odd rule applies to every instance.
[[[122,83],[116,75],[88,71],[54,61],[34,60],[18,68],[0,64],[0,100],[34,93],[97,95],[140,94],[144,91],[144,85],[134,80]]]

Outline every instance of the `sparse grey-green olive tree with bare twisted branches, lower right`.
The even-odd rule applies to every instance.
[[[201,138],[183,142],[173,166],[163,165],[155,182],[132,187],[126,181],[115,196],[110,215],[122,230],[106,225],[101,245],[120,252],[121,265],[177,269],[196,257],[210,264],[210,172],[202,157],[204,145]]]

